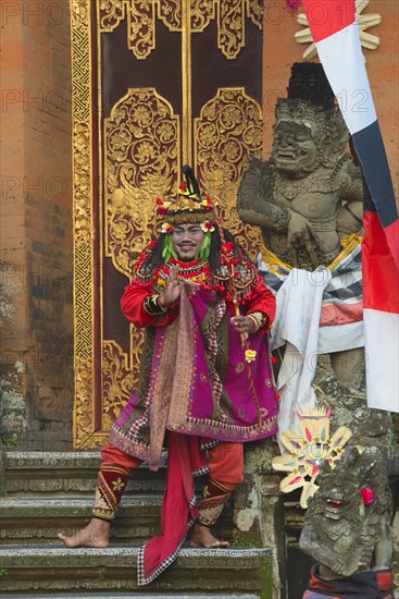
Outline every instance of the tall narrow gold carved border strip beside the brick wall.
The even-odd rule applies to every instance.
[[[93,447],[93,256],[90,154],[89,0],[71,1],[74,182],[75,408],[73,433],[78,448]]]

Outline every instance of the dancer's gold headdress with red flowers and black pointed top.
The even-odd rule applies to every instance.
[[[213,205],[209,195],[201,196],[197,179],[192,169],[185,164],[182,168],[184,180],[178,186],[177,198],[167,201],[158,198],[158,213],[165,218],[162,225],[162,232],[167,232],[175,224],[185,224],[188,222],[199,222],[205,224],[205,229],[211,231],[213,224]]]

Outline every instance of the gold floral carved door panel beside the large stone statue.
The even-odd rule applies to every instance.
[[[201,188],[222,207],[222,220],[251,258],[260,247],[260,233],[238,218],[237,190],[248,155],[262,155],[262,110],[242,87],[221,88],[195,119],[197,175]]]

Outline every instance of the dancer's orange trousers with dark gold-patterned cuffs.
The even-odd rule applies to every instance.
[[[101,467],[97,481],[95,517],[111,521],[126,488],[132,472],[141,461],[107,445],[101,450]],[[212,526],[233,490],[244,480],[242,443],[222,442],[209,450],[209,477],[199,506],[199,522]]]

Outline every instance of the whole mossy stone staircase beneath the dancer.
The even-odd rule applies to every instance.
[[[136,470],[107,549],[70,550],[57,533],[88,522],[100,456],[97,452],[18,452],[2,456],[0,592],[2,597],[158,597],[272,599],[270,549],[182,549],[148,587],[137,587],[137,554],[159,534],[165,466]],[[232,508],[217,534],[233,540]]]

